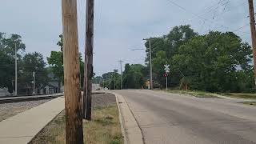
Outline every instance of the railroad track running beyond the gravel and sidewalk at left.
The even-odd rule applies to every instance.
[[[33,101],[38,99],[48,99],[48,98],[58,98],[64,94],[49,94],[49,95],[30,95],[30,96],[10,96],[10,97],[0,97],[0,103],[10,103],[10,102],[24,102]]]

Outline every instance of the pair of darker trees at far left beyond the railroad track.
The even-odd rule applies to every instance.
[[[33,72],[37,75],[36,88],[40,89],[48,82],[48,71],[42,54],[38,52],[25,53],[26,45],[18,34],[0,33],[0,87],[14,91],[15,80],[15,46],[18,61],[18,93],[32,94]]]

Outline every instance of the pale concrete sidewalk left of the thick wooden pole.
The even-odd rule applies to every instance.
[[[43,103],[0,122],[0,143],[25,144],[64,110],[64,97]]]

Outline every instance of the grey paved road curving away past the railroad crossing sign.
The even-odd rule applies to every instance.
[[[256,106],[152,90],[117,90],[150,144],[256,143]]]

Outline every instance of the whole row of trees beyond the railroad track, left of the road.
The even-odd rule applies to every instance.
[[[6,34],[0,32],[0,88],[7,88],[14,92],[15,81],[15,46],[18,57],[18,94],[32,94],[33,72],[36,75],[35,88],[41,90],[50,80],[58,81],[58,92],[63,85],[63,52],[62,34],[59,35],[59,51],[51,51],[50,57],[45,62],[43,55],[38,52],[26,53],[26,45],[18,34]],[[80,54],[81,87],[83,83],[82,56]],[[48,65],[47,65],[48,63]],[[53,77],[50,77],[50,74]]]

